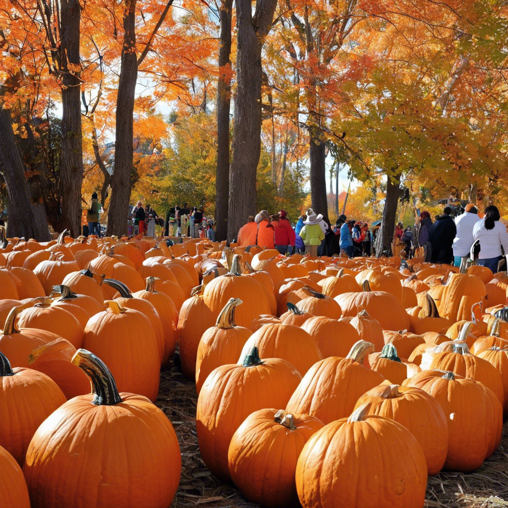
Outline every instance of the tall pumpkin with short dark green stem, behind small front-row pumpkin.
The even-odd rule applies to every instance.
[[[233,434],[252,412],[285,406],[300,379],[285,360],[261,360],[256,347],[242,364],[221,365],[210,373],[198,397],[196,431],[201,458],[213,474],[230,479]]]

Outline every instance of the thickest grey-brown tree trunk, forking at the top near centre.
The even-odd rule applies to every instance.
[[[235,131],[230,171],[228,238],[237,236],[256,213],[256,174],[261,155],[261,49],[270,30],[277,0],[237,0]]]

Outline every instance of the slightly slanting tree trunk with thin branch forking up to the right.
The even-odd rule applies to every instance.
[[[134,156],[134,96],[138,79],[135,14],[136,0],[125,0],[123,11],[125,35],[116,99],[115,162],[108,210],[108,236],[122,236],[127,233]]]

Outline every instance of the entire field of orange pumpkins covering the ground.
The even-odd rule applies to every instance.
[[[201,457],[247,500],[419,508],[429,474],[499,445],[507,289],[418,259],[4,241],[2,506],[169,506],[181,456],[154,402],[178,347]]]

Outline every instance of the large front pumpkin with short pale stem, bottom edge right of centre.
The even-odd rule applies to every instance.
[[[416,438],[394,420],[368,415],[365,406],[311,436],[296,467],[305,508],[421,508],[426,487]]]

